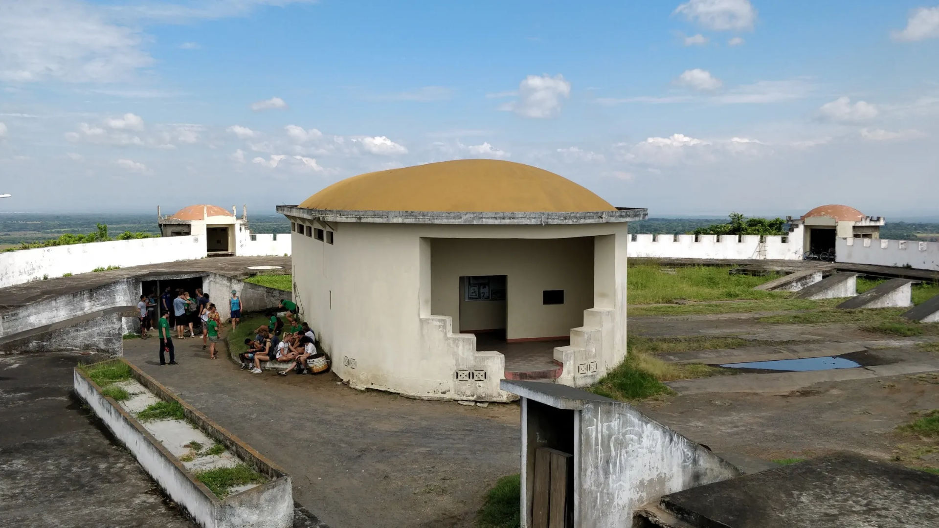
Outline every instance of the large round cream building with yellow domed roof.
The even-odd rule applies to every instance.
[[[524,353],[575,386],[625,356],[626,223],[646,210],[493,160],[364,174],[277,210],[295,301],[353,387],[504,401],[512,344],[569,340]]]

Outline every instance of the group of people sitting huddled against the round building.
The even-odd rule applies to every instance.
[[[296,313],[288,315],[287,319],[290,327],[284,330],[284,322],[272,315],[267,325],[254,330],[254,339],[245,338],[247,350],[239,354],[242,370],[250,369],[253,374],[260,374],[262,361],[274,361],[285,364],[282,370],[278,370],[279,376],[286,376],[291,370],[297,374],[310,374],[306,360],[316,355],[316,334],[307,323],[298,322]]]

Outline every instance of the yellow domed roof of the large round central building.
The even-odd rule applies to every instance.
[[[333,183],[300,207],[439,212],[616,210],[570,179],[499,160],[455,160],[370,172]]]

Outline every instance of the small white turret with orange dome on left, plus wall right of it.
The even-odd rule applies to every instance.
[[[248,227],[248,208],[242,206],[241,218],[235,206],[231,212],[218,206],[199,204],[162,216],[157,207],[157,222],[163,237],[197,235],[206,244],[208,256],[289,256],[290,237],[257,234]]]

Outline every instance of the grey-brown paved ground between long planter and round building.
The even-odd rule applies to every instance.
[[[518,473],[517,404],[362,392],[332,374],[250,374],[209,361],[198,339],[176,349],[179,365],[160,366],[155,340],[131,339],[124,357],[284,467],[295,500],[331,526],[470,528],[485,490]]]

